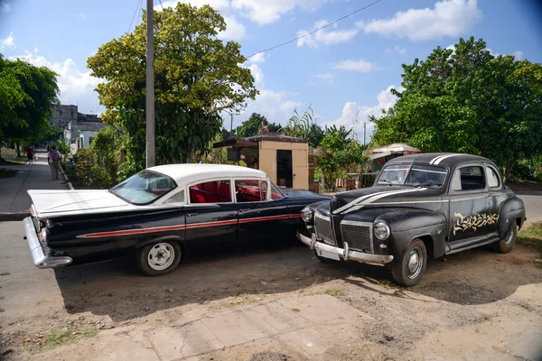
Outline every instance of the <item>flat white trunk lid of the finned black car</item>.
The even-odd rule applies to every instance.
[[[28,190],[39,217],[132,208],[108,190]]]

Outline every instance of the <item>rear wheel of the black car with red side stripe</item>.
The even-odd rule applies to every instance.
[[[137,265],[146,275],[161,276],[172,272],[181,262],[181,256],[179,242],[157,242],[137,250]]]

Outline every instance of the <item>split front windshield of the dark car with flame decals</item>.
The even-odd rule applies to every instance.
[[[448,171],[444,167],[422,164],[397,164],[384,168],[377,184],[406,184],[424,187],[442,187]]]

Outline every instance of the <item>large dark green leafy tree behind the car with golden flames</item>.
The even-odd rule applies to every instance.
[[[471,37],[403,69],[397,104],[371,117],[374,144],[481,154],[500,164],[505,177],[517,160],[542,154],[540,64],[494,57]]]

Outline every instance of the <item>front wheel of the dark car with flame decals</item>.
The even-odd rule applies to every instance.
[[[414,286],[422,279],[427,263],[427,250],[421,239],[415,239],[406,248],[402,257],[397,257],[391,264],[391,273],[395,282],[402,286]]]

